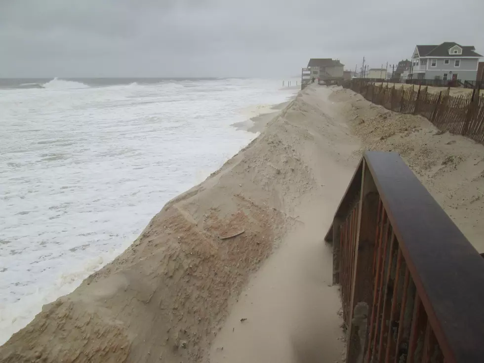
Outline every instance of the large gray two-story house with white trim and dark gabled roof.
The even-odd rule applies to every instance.
[[[412,56],[412,78],[419,80],[475,81],[481,54],[471,45],[446,41],[417,45]]]

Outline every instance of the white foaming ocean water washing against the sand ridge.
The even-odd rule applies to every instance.
[[[0,79],[0,344],[133,242],[294,94],[260,79]]]

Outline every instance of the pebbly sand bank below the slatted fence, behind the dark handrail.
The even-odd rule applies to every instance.
[[[422,116],[391,112],[349,89],[330,99],[363,141],[362,150],[396,151],[480,252],[484,252],[484,146],[443,133]]]

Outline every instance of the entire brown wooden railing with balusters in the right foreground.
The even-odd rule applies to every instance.
[[[484,362],[484,259],[398,154],[364,154],[325,240],[347,363]]]

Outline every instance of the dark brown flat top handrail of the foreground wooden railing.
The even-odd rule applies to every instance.
[[[365,170],[371,174],[445,362],[484,362],[484,259],[397,153],[364,153],[347,190],[352,193],[347,194],[356,190],[363,195],[364,176],[357,174],[364,175]],[[351,198],[345,194],[326,235],[333,246],[337,242],[333,228],[348,214],[344,201]],[[360,243],[357,239],[356,262],[351,266],[355,275]],[[352,304],[351,309],[353,299]]]

